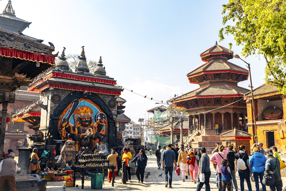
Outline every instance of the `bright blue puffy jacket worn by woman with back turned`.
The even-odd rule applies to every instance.
[[[249,165],[251,166],[251,172],[262,172],[265,170],[265,162],[267,158],[260,152],[254,152],[250,159]]]

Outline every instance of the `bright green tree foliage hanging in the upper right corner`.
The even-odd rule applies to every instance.
[[[272,80],[278,90],[286,94],[286,1],[285,0],[229,0],[223,5],[223,24],[219,31],[233,35],[242,45],[242,56],[262,54],[266,61],[265,80]],[[231,21],[233,25],[229,25]],[[229,44],[230,48],[232,44]]]

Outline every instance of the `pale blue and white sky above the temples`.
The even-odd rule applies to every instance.
[[[199,88],[186,74],[204,62],[200,54],[219,45],[241,55],[233,36],[219,42],[223,27],[222,4],[227,0],[13,0],[16,17],[32,22],[28,36],[52,42],[54,54],[80,54],[99,60],[106,75],[124,88],[125,115],[138,123],[153,117],[147,110],[155,104]],[[4,10],[8,1],[0,1]],[[232,23],[229,23],[232,24]],[[241,57],[251,65],[253,88],[264,83],[265,60],[260,55]],[[229,60],[246,68],[246,64]],[[238,85],[250,89],[249,80]],[[131,92],[132,90],[132,92]],[[144,98],[146,96],[146,98]],[[151,100],[152,98],[152,100]],[[166,105],[165,105],[166,106]]]

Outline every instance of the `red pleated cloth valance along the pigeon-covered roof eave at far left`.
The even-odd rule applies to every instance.
[[[10,58],[19,58],[21,60],[29,60],[33,62],[43,62],[55,65],[55,58],[47,55],[24,52],[20,50],[12,50],[8,48],[0,48],[0,55]]]

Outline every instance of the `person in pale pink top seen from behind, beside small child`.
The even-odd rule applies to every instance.
[[[219,191],[222,190],[222,182],[221,182],[221,169],[220,164],[223,161],[223,159],[227,158],[227,153],[229,152],[229,149],[227,147],[224,147],[223,145],[219,146],[219,152],[213,153],[213,155],[210,157],[210,162],[217,164],[217,175],[219,177]]]

